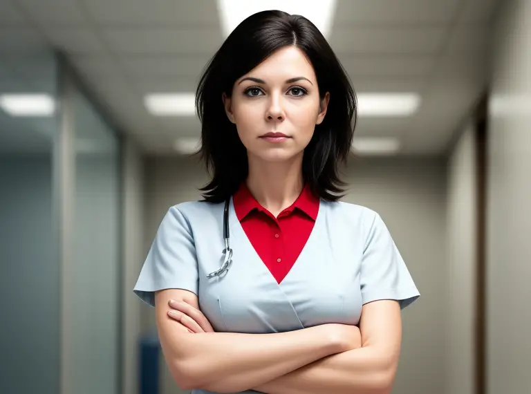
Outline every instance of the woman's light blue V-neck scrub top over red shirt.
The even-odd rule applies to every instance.
[[[246,333],[357,325],[365,303],[393,299],[405,308],[419,297],[391,234],[371,209],[321,200],[310,238],[280,284],[252,247],[232,201],[229,225],[232,266],[225,276],[207,279],[223,263],[223,204],[171,207],[134,292],[154,306],[157,290],[189,290],[216,332]]]

